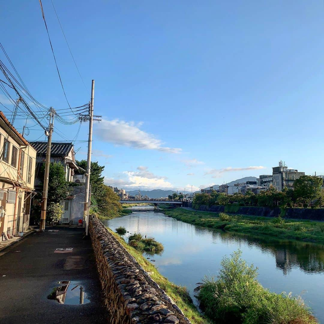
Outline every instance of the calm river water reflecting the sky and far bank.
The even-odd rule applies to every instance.
[[[142,210],[138,210],[138,209]],[[177,221],[151,207],[102,221],[113,231],[124,226],[163,243],[162,255],[147,256],[170,281],[193,289],[205,275],[217,274],[225,255],[240,249],[242,258],[258,267],[258,280],[272,292],[302,294],[320,323],[324,323],[324,248],[311,243],[267,242],[266,239],[212,230]],[[145,255],[146,256],[146,255]]]

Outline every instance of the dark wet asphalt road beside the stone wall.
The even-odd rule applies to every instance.
[[[82,237],[81,228],[47,227],[44,233],[32,234],[0,254],[0,323],[108,322],[91,241]],[[54,253],[66,248],[73,250]],[[47,298],[53,288],[62,286],[59,281],[72,282],[64,304]],[[87,304],[79,304],[80,286],[84,302],[90,300]],[[67,305],[70,295],[77,295],[73,299],[77,305]]]

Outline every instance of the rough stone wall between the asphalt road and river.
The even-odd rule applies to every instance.
[[[190,324],[179,307],[151,279],[118,240],[90,216],[99,278],[111,324]]]

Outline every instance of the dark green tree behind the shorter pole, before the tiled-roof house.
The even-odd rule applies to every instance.
[[[41,167],[41,181],[40,184],[43,186],[45,174],[45,163]],[[67,182],[65,180],[64,166],[61,163],[51,163],[49,171],[48,180],[48,193],[47,193],[47,203],[60,203],[62,199],[69,196],[72,188],[77,186],[74,182]],[[41,194],[38,199],[41,199]]]

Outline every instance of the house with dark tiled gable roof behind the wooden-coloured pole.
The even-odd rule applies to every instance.
[[[35,189],[41,191],[40,181],[40,170],[43,163],[46,160],[47,142],[30,142],[30,145],[37,152],[37,163],[36,163],[36,179]],[[65,171],[65,180],[74,181],[74,172],[78,169],[75,163],[75,151],[72,143],[56,143],[53,142],[51,145],[51,162],[62,163]]]

